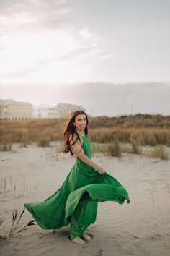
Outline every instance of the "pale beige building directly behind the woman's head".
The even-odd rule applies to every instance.
[[[68,118],[72,111],[83,110],[86,111],[82,106],[72,105],[68,103],[58,103],[59,117]]]

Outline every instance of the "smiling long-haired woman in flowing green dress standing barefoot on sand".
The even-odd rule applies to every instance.
[[[71,241],[76,244],[91,239],[86,229],[96,220],[98,202],[130,202],[125,187],[91,161],[88,124],[84,111],[71,114],[64,131],[62,151],[75,156],[76,163],[53,195],[42,202],[24,204],[42,229],[58,229],[70,224]]]

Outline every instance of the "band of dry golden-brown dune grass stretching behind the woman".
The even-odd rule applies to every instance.
[[[10,150],[12,143],[46,146],[50,141],[63,140],[66,119],[32,119],[30,121],[0,120],[1,150]],[[170,145],[170,116],[136,114],[115,118],[90,117],[91,142],[120,142],[135,140],[140,145]]]

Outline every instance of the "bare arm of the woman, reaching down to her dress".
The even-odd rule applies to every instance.
[[[73,142],[75,141],[76,135],[73,135],[71,137],[70,143],[73,144]],[[73,146],[71,146],[71,150],[73,150],[73,153],[75,153],[81,159],[82,162],[86,163],[87,165],[93,168],[96,168],[99,174],[104,174],[104,168],[102,168],[102,166],[99,166],[97,163],[94,163],[94,161],[91,161],[91,159],[84,154],[84,150],[81,147],[79,140],[77,140],[76,143]]]

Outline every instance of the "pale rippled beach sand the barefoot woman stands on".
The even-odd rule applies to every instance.
[[[97,221],[87,232],[92,239],[84,245],[70,241],[68,226],[53,231],[36,224],[1,240],[1,255],[170,255],[170,161],[128,154],[122,158],[96,154],[93,160],[125,186],[130,204],[99,202]],[[55,192],[74,162],[75,158],[56,153],[55,143],[0,152],[0,216],[5,219],[6,234],[12,210],[21,213],[24,202],[38,202]],[[30,220],[25,210],[19,228]]]

